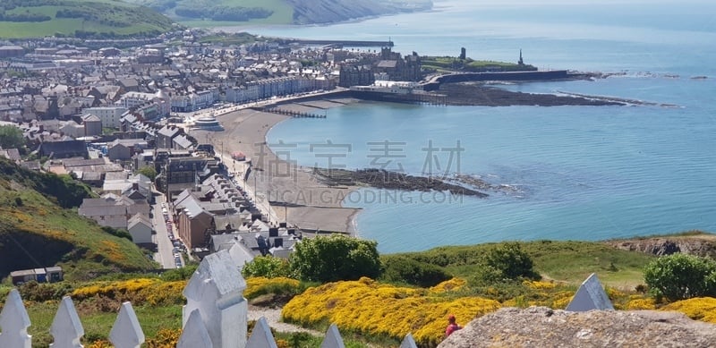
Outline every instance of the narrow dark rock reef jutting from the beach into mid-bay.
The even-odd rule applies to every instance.
[[[328,186],[370,186],[383,190],[402,191],[449,191],[452,194],[488,197],[488,194],[463,185],[447,182],[437,177],[413,176],[405,173],[390,172],[382,169],[321,169],[313,174],[320,182]]]

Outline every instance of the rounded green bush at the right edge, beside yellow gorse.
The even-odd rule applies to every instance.
[[[682,253],[662,256],[646,265],[644,281],[669,301],[716,296],[716,261]]]

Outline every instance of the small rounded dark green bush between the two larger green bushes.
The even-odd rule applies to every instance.
[[[518,242],[506,242],[490,250],[486,263],[488,267],[492,267],[499,272],[503,278],[517,279],[522,276],[528,278],[540,277],[534,272],[532,258],[522,250]]]

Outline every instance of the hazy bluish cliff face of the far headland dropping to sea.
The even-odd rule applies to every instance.
[[[356,18],[410,13],[432,8],[430,0],[288,0],[294,7],[294,24],[321,24],[349,21]]]

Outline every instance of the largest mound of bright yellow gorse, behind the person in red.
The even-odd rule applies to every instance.
[[[282,312],[286,321],[304,325],[336,323],[342,330],[401,339],[408,333],[419,345],[436,345],[444,336],[447,315],[462,325],[499,309],[499,302],[480,297],[447,299],[424,289],[357,281],[311,287],[289,301]]]

